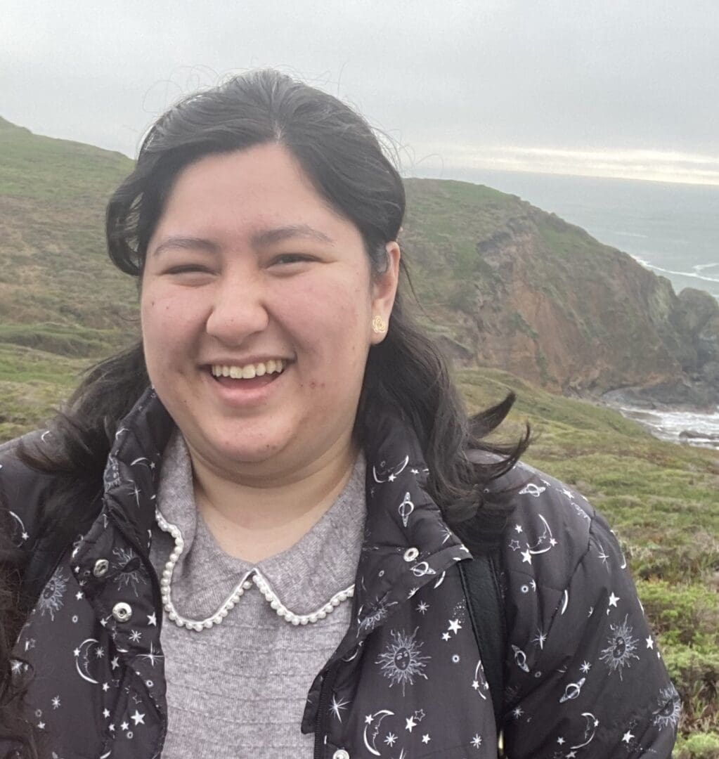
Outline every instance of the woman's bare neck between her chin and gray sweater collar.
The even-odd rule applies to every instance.
[[[272,480],[248,480],[189,450],[197,509],[222,550],[251,563],[287,550],[320,520],[358,455],[351,440],[338,442],[311,464]]]

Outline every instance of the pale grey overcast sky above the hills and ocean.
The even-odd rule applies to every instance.
[[[163,109],[271,66],[352,102],[406,175],[719,184],[717,0],[5,0],[0,115],[134,156]]]

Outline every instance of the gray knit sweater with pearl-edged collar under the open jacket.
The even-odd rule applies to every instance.
[[[320,521],[295,546],[256,565],[224,553],[198,515],[179,433],[163,457],[158,506],[184,538],[172,578],[172,600],[182,616],[211,616],[253,566],[285,606],[307,614],[354,582],[364,531],[364,456]],[[150,556],[159,573],[174,546],[155,526]],[[307,691],[342,640],[351,604],[340,603],[315,624],[293,626],[253,586],[208,630],[179,628],[165,616],[169,729],[163,759],[309,759],[314,736],[300,732]]]

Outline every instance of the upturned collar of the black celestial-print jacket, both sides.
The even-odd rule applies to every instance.
[[[150,547],[162,453],[175,423],[153,389],[125,417],[108,456],[101,518],[113,520],[136,546]],[[367,520],[355,582],[352,623],[336,657],[345,656],[393,610],[449,566],[471,558],[427,494],[429,471],[417,436],[387,409],[377,414],[366,446]]]

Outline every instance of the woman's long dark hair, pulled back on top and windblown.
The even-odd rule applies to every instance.
[[[203,156],[273,142],[285,146],[320,196],[355,224],[373,272],[382,272],[385,245],[398,237],[405,213],[402,178],[361,115],[276,71],[233,77],[186,97],[156,121],[134,172],[107,207],[107,244],[115,265],[137,277],[139,285],[147,244],[184,168]],[[528,446],[529,429],[513,445],[484,441],[506,417],[514,395],[468,419],[445,359],[405,308],[402,290],[411,288],[411,282],[404,259],[402,276],[405,283],[386,339],[371,348],[367,360],[355,436],[364,446],[370,430],[366,422],[383,408],[408,420],[430,470],[430,495],[450,526],[462,537],[471,534],[476,546],[494,539],[503,526],[507,507],[498,496],[487,501],[485,488],[516,463]],[[68,482],[94,481],[99,488],[118,422],[148,383],[141,345],[102,361],[55,418],[52,438],[59,442],[54,449],[24,446],[21,458]],[[489,455],[475,463],[468,457],[470,449]],[[81,508],[67,492],[62,506]],[[52,505],[55,511],[60,508],[59,503]],[[482,529],[476,529],[478,520],[470,520],[478,513],[485,517]],[[469,530],[468,524],[475,529]]]

